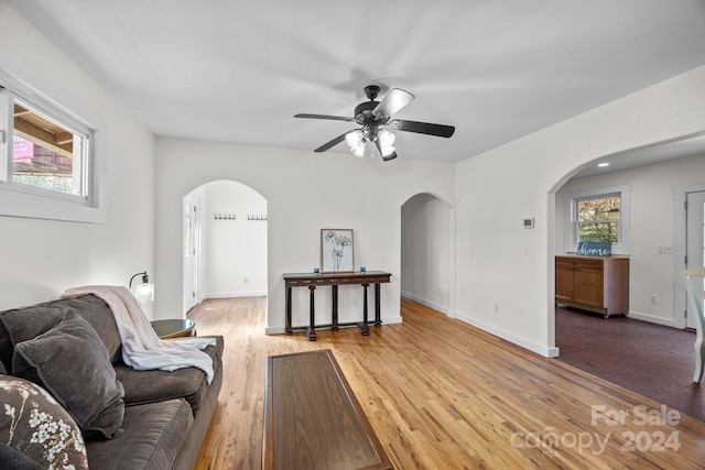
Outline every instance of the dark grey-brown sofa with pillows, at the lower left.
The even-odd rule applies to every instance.
[[[79,426],[83,420],[80,431],[90,469],[193,469],[223,383],[224,341],[221,336],[213,338],[216,345],[204,349],[213,358],[215,373],[210,383],[195,368],[137,371],[122,362],[118,329],[104,300],[91,294],[53,300],[0,311],[0,374],[6,374],[0,379],[11,390],[18,382],[12,382],[10,375],[21,371],[30,385],[48,383],[45,389],[50,393],[58,391],[52,395],[64,395],[55,398]],[[96,380],[107,385],[91,385]],[[26,392],[23,393],[24,400]],[[10,444],[0,442],[0,468],[51,467],[22,452],[31,448],[37,433],[28,434],[34,437],[23,440],[12,420],[14,413],[30,408],[32,400],[30,396],[15,407],[6,408],[6,430],[13,439]],[[87,412],[88,417],[82,415],[80,408],[72,413],[72,406],[76,411],[80,403],[86,403],[87,408],[102,406],[104,411],[93,415]],[[64,438],[68,442],[76,440],[66,438],[66,433]],[[66,446],[57,448],[66,450]]]

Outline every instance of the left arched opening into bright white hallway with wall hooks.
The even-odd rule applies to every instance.
[[[234,181],[184,196],[183,309],[206,298],[265,296],[267,199]]]

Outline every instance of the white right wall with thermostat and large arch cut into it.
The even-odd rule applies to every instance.
[[[457,317],[555,356],[555,190],[600,156],[702,131],[705,67],[458,164]]]

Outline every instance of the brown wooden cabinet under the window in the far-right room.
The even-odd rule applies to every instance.
[[[629,259],[555,256],[555,303],[605,315],[629,311]]]

